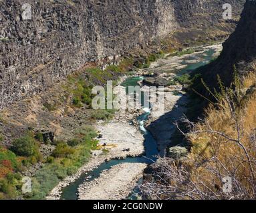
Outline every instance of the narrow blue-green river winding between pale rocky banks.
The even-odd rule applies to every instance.
[[[212,59],[214,59],[217,55],[217,49],[215,48],[205,48],[205,51],[202,51],[200,53],[194,53],[192,55],[186,55],[181,57],[179,61],[179,65],[182,65],[183,68],[179,69],[176,71],[176,75],[182,75],[184,73],[188,73],[189,71],[192,71],[194,69],[197,69],[198,67],[201,67]],[[157,69],[164,69],[166,70],[166,67],[174,67],[172,66],[173,63],[170,61],[170,64],[165,63],[164,65],[157,66]],[[162,68],[161,68],[162,67]],[[126,79],[122,83],[122,86],[126,87],[126,90],[128,86],[135,86],[138,85],[138,81],[141,81],[143,77],[130,77]],[[143,97],[143,96],[142,96]],[[142,103],[142,108],[143,108],[143,103]],[[150,115],[150,109],[149,108],[144,108],[144,114],[138,116],[137,120],[140,124],[140,131],[142,132],[144,136],[144,146],[146,150],[146,154],[141,157],[134,157],[134,158],[126,158],[124,160],[110,160],[109,162],[104,162],[98,168],[88,172],[84,173],[78,178],[75,182],[72,182],[69,186],[66,188],[63,188],[62,194],[61,194],[61,199],[62,200],[77,200],[78,195],[78,187],[80,184],[84,183],[84,181],[90,182],[94,180],[95,178],[98,178],[103,170],[108,170],[112,166],[121,164],[124,162],[129,162],[129,163],[146,163],[146,164],[152,164],[154,162],[159,154],[156,140],[153,138],[152,134],[146,130],[144,127],[144,122],[148,119],[148,116]],[[138,192],[138,188],[135,188],[133,192],[131,192],[130,196],[128,199],[136,199],[136,193]]]

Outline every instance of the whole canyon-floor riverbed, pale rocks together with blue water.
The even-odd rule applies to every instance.
[[[152,63],[150,68],[139,71],[138,76],[123,81],[118,86],[120,91],[126,94],[129,86],[140,85],[142,97],[143,88],[166,84],[164,91],[171,95],[164,100],[164,113],[153,117],[154,107],[144,108],[142,100],[140,112],[134,112],[131,116],[124,111],[118,112],[116,122],[99,123],[102,143],[110,141],[107,146],[112,147],[106,154],[108,157],[102,152],[93,152],[92,161],[96,160],[96,163],[85,166],[75,176],[59,183],[49,199],[137,199],[144,168],[155,162],[158,156],[164,155],[174,132],[173,122],[185,110],[186,95],[182,92],[182,86],[170,86],[166,82],[209,63],[220,52],[221,45],[213,45],[201,47],[190,55],[166,56]],[[122,150],[118,150],[117,141],[121,142]]]

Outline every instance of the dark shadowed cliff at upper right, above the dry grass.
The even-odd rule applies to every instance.
[[[256,3],[247,1],[241,20],[235,32],[223,44],[223,52],[219,59],[205,67],[205,79],[211,86],[217,75],[221,76],[225,85],[233,81],[233,66],[236,65],[239,72],[245,71],[248,63],[256,57]]]

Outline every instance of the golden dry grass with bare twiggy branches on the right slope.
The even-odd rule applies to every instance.
[[[181,163],[161,159],[157,181],[144,184],[144,194],[157,199],[255,199],[255,85],[256,75],[249,73],[243,79],[243,96],[241,91],[227,93],[197,124],[184,119],[191,128],[186,134],[190,154]],[[227,177],[229,192],[223,189]]]

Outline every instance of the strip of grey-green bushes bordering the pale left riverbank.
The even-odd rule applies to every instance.
[[[91,150],[96,150],[98,136],[95,128],[90,125],[82,125],[75,131],[78,138],[63,141],[55,141],[56,148],[52,156],[48,156],[46,164],[37,171],[33,178],[33,192],[29,194],[31,199],[43,199],[59,181],[74,174],[84,165],[91,156]],[[72,148],[76,146],[76,148]]]

